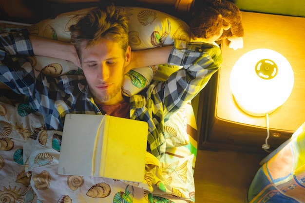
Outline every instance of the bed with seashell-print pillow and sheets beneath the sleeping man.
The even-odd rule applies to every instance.
[[[124,9],[130,18],[133,50],[171,45],[173,39],[187,39],[188,26],[165,13],[139,7]],[[31,34],[69,41],[68,26],[87,9],[63,13],[27,28]],[[1,30],[18,27],[1,23]],[[82,74],[72,62],[29,57],[32,66],[44,74]],[[174,71],[181,67],[171,67]],[[168,65],[132,70],[125,75],[123,92],[136,94],[152,80],[165,80]],[[33,111],[26,98],[5,86],[0,89],[0,201],[5,203],[191,203],[195,188],[193,172],[197,152],[197,127],[191,101],[166,118],[166,154],[156,159],[147,152],[145,180],[141,183],[97,177],[57,174],[62,132],[46,130],[43,117]],[[144,167],[144,166],[143,166]]]

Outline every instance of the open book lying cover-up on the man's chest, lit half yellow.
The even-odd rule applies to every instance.
[[[144,121],[67,114],[57,172],[142,182],[147,135]]]

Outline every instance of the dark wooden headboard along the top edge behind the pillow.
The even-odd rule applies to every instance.
[[[35,24],[61,13],[94,7],[103,2],[106,0],[1,0],[0,20]],[[113,2],[116,6],[152,8],[173,16],[183,16],[188,14],[195,0],[113,0]]]

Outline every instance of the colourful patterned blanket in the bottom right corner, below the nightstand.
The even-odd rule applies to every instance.
[[[271,152],[255,174],[247,203],[305,202],[305,123]]]

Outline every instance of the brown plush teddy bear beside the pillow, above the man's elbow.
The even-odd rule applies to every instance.
[[[188,22],[193,39],[204,38],[208,42],[228,39],[229,48],[243,48],[242,14],[231,1],[200,0]]]

